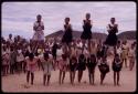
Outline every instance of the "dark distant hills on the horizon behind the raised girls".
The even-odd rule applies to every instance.
[[[45,38],[62,38],[64,34],[63,30],[60,30],[57,32],[51,33],[46,35]],[[82,31],[73,31],[73,38],[79,39],[82,34]],[[93,39],[100,39],[105,40],[107,36],[106,33],[99,33],[99,32],[93,32]],[[119,39],[128,39],[128,40],[134,40],[136,39],[136,31],[125,31],[118,34]]]

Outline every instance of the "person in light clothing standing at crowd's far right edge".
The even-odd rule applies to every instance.
[[[132,71],[135,64],[135,44],[131,44],[128,56],[129,56],[129,70]]]

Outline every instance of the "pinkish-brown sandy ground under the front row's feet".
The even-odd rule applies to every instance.
[[[112,61],[112,60],[110,60]],[[112,65],[112,64],[110,64]],[[34,85],[24,88],[26,74],[14,74],[2,76],[2,92],[135,92],[136,91],[136,65],[132,71],[123,67],[120,72],[120,86],[114,86],[113,70],[107,73],[104,85],[99,84],[99,70],[95,70],[95,85],[88,83],[88,72],[84,71],[82,83],[77,82],[77,72],[75,75],[75,85],[70,84],[70,73],[66,73],[64,84],[59,85],[59,70],[53,71],[50,86],[43,86],[43,72],[36,71],[34,75]],[[86,83],[85,83],[86,82]]]

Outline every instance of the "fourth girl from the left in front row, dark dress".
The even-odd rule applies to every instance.
[[[76,65],[77,65],[77,59],[75,56],[72,56],[70,60],[70,80],[72,85],[74,85]]]

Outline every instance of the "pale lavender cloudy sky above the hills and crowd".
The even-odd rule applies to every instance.
[[[112,17],[116,18],[119,33],[136,30],[136,3],[130,1],[87,1],[87,2],[3,2],[2,36],[9,33],[31,39],[36,15],[42,15],[44,35],[63,30],[64,19],[71,18],[73,30],[83,31],[83,20],[91,13],[92,32],[107,33],[106,27]]]

